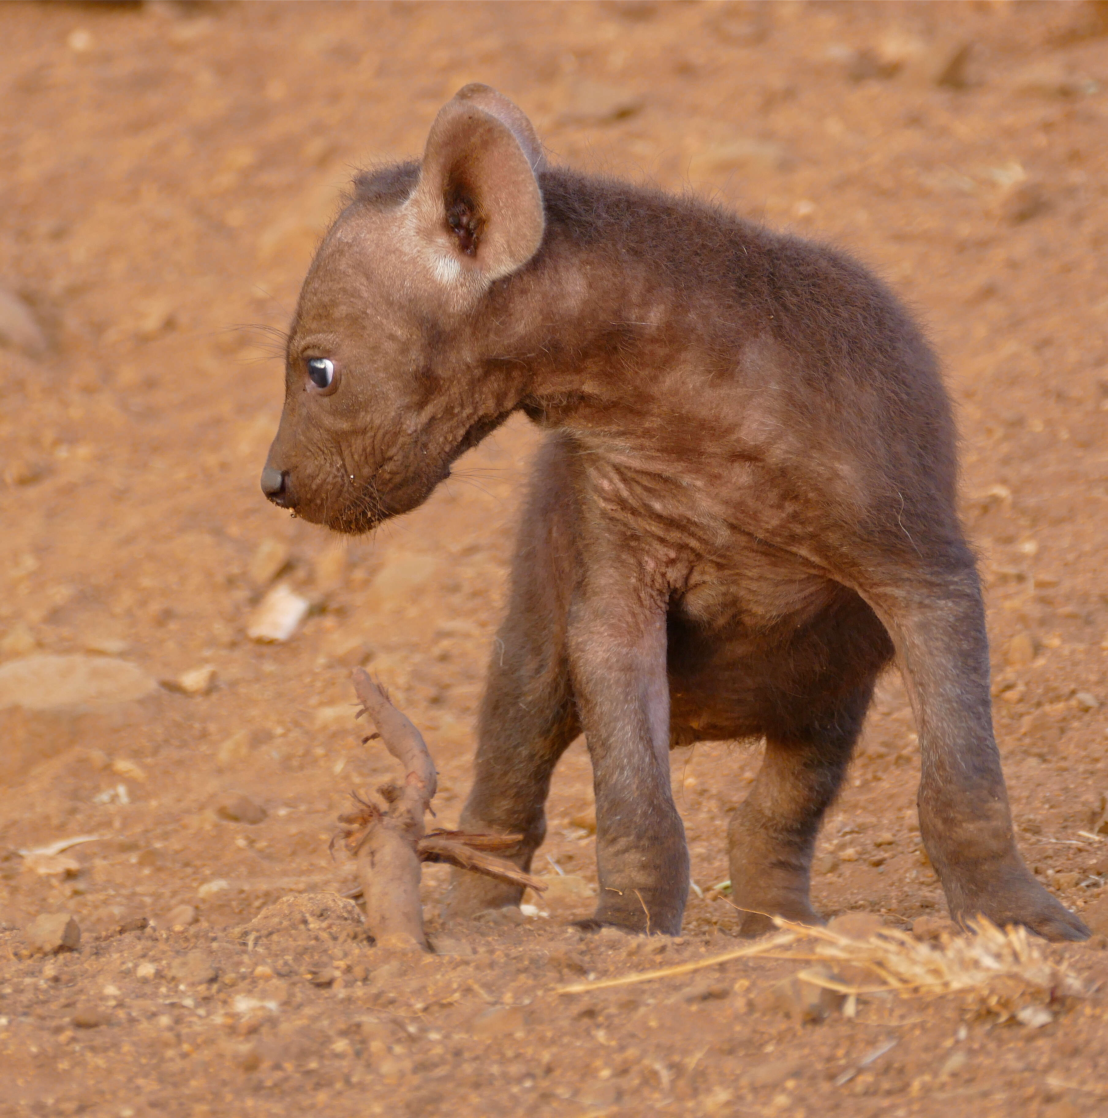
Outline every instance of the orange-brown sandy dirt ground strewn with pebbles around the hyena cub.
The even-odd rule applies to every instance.
[[[1102,3],[9,3],[0,30],[0,1114],[1108,1114]],[[1019,839],[1095,931],[1042,953],[1080,994],[878,988],[805,1022],[811,964],[758,956],[558,993],[744,945],[725,833],[756,742],[674,755],[681,938],[569,926],[595,890],[579,741],[547,899],[448,925],[433,866],[437,953],[367,941],[328,843],[394,773],[350,669],[424,731],[452,824],[537,435],[336,542],[258,489],[274,331],[353,170],[418,153],[475,79],[555,160],[847,247],[927,324]],[[307,613],[259,643],[275,587]],[[828,917],[942,928],[918,769],[894,673],[820,841]]]

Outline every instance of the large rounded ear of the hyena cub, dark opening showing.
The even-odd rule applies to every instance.
[[[543,151],[531,121],[487,85],[467,85],[440,110],[411,199],[412,233],[443,283],[486,287],[523,267],[543,239],[535,172]]]

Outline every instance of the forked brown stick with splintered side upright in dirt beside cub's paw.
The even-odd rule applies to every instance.
[[[362,703],[355,716],[369,714],[385,749],[403,765],[402,785],[386,784],[378,794],[380,807],[355,794],[356,811],[340,816],[342,837],[357,859],[357,879],[365,901],[365,922],[379,945],[429,950],[419,898],[420,863],[449,862],[514,884],[543,892],[545,885],[489,851],[514,846],[518,835],[468,834],[464,831],[424,831],[424,815],[437,789],[434,762],[423,736],[389,701],[384,689],[355,667],[354,692]]]

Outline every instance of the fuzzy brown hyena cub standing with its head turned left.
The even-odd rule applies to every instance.
[[[334,361],[324,391],[312,357]],[[815,921],[816,830],[895,659],[952,915],[1088,935],[1015,849],[951,409],[881,283],[700,200],[547,168],[519,111],[469,86],[422,164],[360,178],[321,246],[264,487],[369,531],[516,410],[552,434],[462,826],[523,834],[526,869],[551,773],[583,730],[593,922],[642,930],[646,909],[676,934],[688,854],[667,750],[764,736],[729,827],[735,900]],[[459,913],[518,900],[465,877],[452,897]]]

